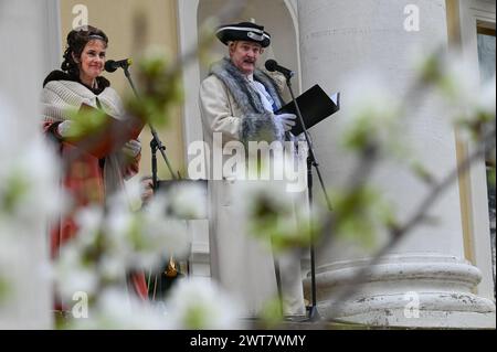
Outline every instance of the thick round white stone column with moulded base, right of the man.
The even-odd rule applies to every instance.
[[[420,30],[404,30],[404,8],[420,11]],[[390,88],[402,93],[413,76],[406,53],[415,45],[429,50],[446,45],[446,13],[443,0],[302,0],[298,1],[303,88],[318,83],[338,92],[351,72],[379,74]],[[342,96],[348,93],[342,92]],[[352,97],[353,98],[353,97]],[[348,99],[350,100],[350,99]],[[348,109],[341,106],[342,111]],[[347,184],[355,160],[337,147],[346,114],[311,130],[325,182]],[[408,114],[404,140],[438,178],[456,166],[454,131],[447,116],[433,102]],[[371,183],[395,203],[405,220],[427,194],[425,184],[396,164],[381,163]],[[320,190],[315,182],[314,193]],[[463,231],[457,184],[454,183],[431,209],[436,225],[420,225],[378,265],[360,291],[339,309],[346,321],[406,327],[495,327],[494,302],[473,294],[480,271],[464,259]],[[378,238],[381,243],[385,238]],[[318,308],[330,312],[336,292],[370,253],[350,249],[340,241],[319,252]],[[309,280],[305,280],[309,289]],[[419,318],[406,313],[419,307]]]

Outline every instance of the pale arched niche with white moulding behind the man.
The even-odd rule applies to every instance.
[[[189,0],[178,1],[178,32],[179,50],[183,55],[198,45],[199,28],[210,17],[219,13],[220,9],[229,0]],[[282,65],[300,72],[300,58],[298,47],[298,25],[296,6],[293,0],[254,0],[247,1],[244,12],[239,18],[229,20],[229,23],[250,21],[254,19],[257,23],[265,25],[272,34],[273,43],[260,65],[264,65],[266,58],[275,58]],[[212,47],[212,57],[221,58],[226,53],[226,47],[215,42]],[[209,67],[201,65],[198,61],[183,67],[184,103],[183,103],[183,140],[184,160],[193,158],[188,156],[188,147],[194,141],[203,140],[202,124],[199,109],[199,87],[201,81],[207,76]],[[298,76],[298,75],[297,75]],[[295,89],[300,90],[299,77],[294,78]],[[190,268],[192,276],[209,277],[209,224],[207,221],[191,221],[192,255]]]

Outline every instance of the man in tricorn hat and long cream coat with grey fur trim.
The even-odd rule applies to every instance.
[[[271,143],[293,138],[288,131],[296,116],[274,114],[283,105],[281,87],[256,68],[257,60],[271,44],[269,33],[255,23],[241,22],[220,26],[216,36],[228,46],[229,57],[211,66],[200,88],[203,135],[210,150],[222,150],[230,141],[247,146],[248,141]],[[215,168],[210,161],[210,167]],[[214,168],[210,168],[210,178],[216,172]],[[281,262],[281,273],[275,269],[273,253],[246,234],[246,218],[237,209],[244,200],[234,195],[236,177],[223,166],[218,168],[222,168],[222,180],[210,183],[212,277],[243,301],[247,316],[261,313],[264,305],[276,297],[278,287],[284,313],[305,316],[299,260],[286,258]]]

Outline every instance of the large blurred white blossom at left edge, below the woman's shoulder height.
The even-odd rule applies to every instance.
[[[33,228],[61,205],[60,166],[41,134],[0,99],[0,221]]]

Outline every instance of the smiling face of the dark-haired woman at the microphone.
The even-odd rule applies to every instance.
[[[107,45],[99,40],[89,41],[83,49],[80,58],[80,78],[85,84],[92,84],[104,71],[105,51]]]

